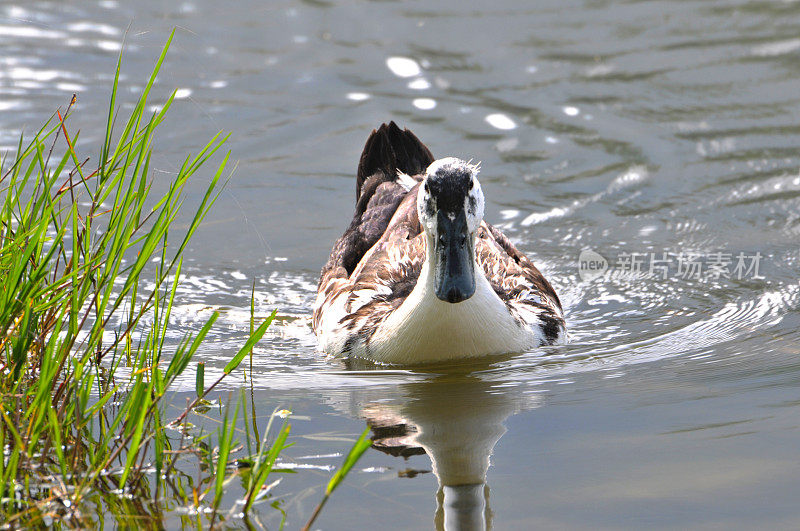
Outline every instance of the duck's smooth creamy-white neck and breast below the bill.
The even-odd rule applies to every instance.
[[[370,341],[371,356],[387,363],[414,364],[528,348],[527,335],[477,262],[473,264],[476,285],[472,297],[449,303],[436,296],[434,244],[427,233],[426,240],[426,260],[417,284],[376,331]]]

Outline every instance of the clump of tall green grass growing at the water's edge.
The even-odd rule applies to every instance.
[[[259,433],[244,393],[225,406],[207,401],[252,357],[276,313],[257,319],[251,304],[249,337],[209,386],[203,363],[192,361],[218,314],[177,345],[167,339],[184,250],[224,187],[230,156],[218,133],[183,161],[162,197],[151,194],[153,135],[175,93],[152,114],[147,99],[173,36],[124,123],[120,53],[96,161],[79,154],[79,134],[67,126],[75,96],[32,139],[20,138],[13,160],[0,161],[2,529],[162,527],[167,519],[208,528],[231,518],[263,527],[255,504],[273,507],[285,523],[272,489],[275,474],[288,472],[278,461],[291,446],[288,412],[276,409]],[[178,230],[187,183],[215,156],[222,161]],[[172,418],[170,387],[190,365],[196,397]],[[215,411],[215,430],[189,422]],[[369,448],[366,434],[307,526]],[[237,478],[240,496],[231,503],[224,494]]]

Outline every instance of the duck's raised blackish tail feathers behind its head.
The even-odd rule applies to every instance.
[[[406,175],[424,173],[433,162],[433,155],[425,144],[408,129],[400,129],[396,123],[382,124],[369,135],[356,178],[356,201],[361,194],[383,182],[397,180],[398,172]],[[373,179],[370,179],[373,178]],[[367,181],[370,186],[364,186]]]

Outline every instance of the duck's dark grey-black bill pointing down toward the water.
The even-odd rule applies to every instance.
[[[445,302],[465,301],[475,293],[475,261],[467,216],[460,211],[450,219],[440,210],[436,220],[436,296]]]

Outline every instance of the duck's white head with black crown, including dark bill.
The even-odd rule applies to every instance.
[[[484,199],[478,166],[448,157],[428,166],[419,187],[417,212],[428,237],[436,296],[457,303],[475,293],[475,234]]]

